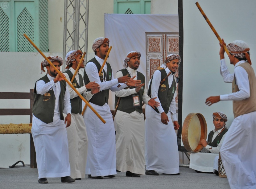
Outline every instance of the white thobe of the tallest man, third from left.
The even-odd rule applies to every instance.
[[[95,58],[100,65],[103,64],[104,60],[97,56]],[[105,71],[106,65],[103,68]],[[118,88],[118,79],[114,79],[113,72],[111,73],[111,80],[101,82],[98,69],[93,62],[86,64],[85,72],[91,82],[95,81],[100,85],[101,90],[110,89],[111,91],[118,91],[127,87],[126,84],[121,84]],[[105,78],[105,75],[103,78]],[[105,105],[99,106],[91,102],[89,103],[106,123],[104,124],[90,108],[86,108],[83,117],[88,134],[89,146],[85,173],[93,177],[114,175],[116,174],[115,129],[109,105],[105,103]]]

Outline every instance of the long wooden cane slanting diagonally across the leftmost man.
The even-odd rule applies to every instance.
[[[52,62],[43,54],[42,51],[39,50],[39,48],[35,45],[35,43],[33,43],[33,41],[31,41],[31,39],[29,39],[29,37],[26,34],[23,34],[24,37],[31,43],[31,45],[33,45],[35,47],[35,49],[43,56],[43,58],[45,58],[45,60],[47,60],[47,62],[55,69],[55,71],[67,82],[67,84],[78,94],[78,96],[85,102],[85,104],[88,104],[89,108],[92,109],[92,111],[97,115],[98,118],[100,118],[100,120],[103,123],[106,123],[106,121],[96,112],[95,109],[93,109],[93,107],[85,100],[85,98],[76,90],[76,88],[73,87],[73,85],[70,83],[70,81],[65,78],[61,72],[52,64]]]

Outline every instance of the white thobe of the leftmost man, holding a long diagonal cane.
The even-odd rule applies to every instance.
[[[50,82],[36,82],[37,94],[43,95],[49,90],[55,94],[55,109],[52,123],[44,123],[33,115],[31,133],[36,151],[38,178],[64,177],[70,175],[68,161],[68,138],[64,120],[60,119],[60,82],[56,84],[47,74]],[[68,88],[64,94],[64,113],[71,113]]]

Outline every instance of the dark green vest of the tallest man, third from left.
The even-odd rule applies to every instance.
[[[93,58],[93,59],[89,60],[88,62],[93,62],[97,66],[98,72],[100,71],[101,65],[100,65],[100,63],[98,63],[96,58]],[[112,78],[112,76],[111,76],[111,73],[112,73],[111,66],[107,62],[106,62],[106,64],[107,64],[107,73],[102,69],[101,75],[99,76],[101,82],[103,82],[103,80],[104,80],[103,72],[104,72],[104,76],[106,76],[106,81],[109,81]],[[86,72],[84,72],[84,81],[85,81],[85,85],[90,82]],[[91,91],[91,89],[88,89],[88,91]],[[109,100],[109,89],[105,89],[103,91],[100,91],[100,92],[94,94],[93,97],[90,99],[90,102],[93,103],[93,104],[99,105],[99,106],[103,106],[105,103],[108,104],[108,100]]]

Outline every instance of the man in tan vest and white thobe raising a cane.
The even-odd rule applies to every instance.
[[[224,40],[220,43],[221,76],[232,83],[232,93],[206,99],[207,105],[225,100],[233,101],[234,120],[221,147],[221,159],[229,186],[234,188],[256,188],[256,77],[251,67],[249,46],[236,40],[227,46],[230,64],[234,73],[230,74],[224,57]]]

